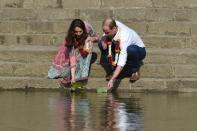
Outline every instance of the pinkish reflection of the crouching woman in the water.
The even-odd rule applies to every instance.
[[[86,127],[89,107],[85,96],[61,94],[52,105],[55,105],[52,107],[54,109],[52,113],[55,112],[58,131],[79,131]]]

